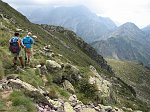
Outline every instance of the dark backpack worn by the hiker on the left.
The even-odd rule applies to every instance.
[[[17,54],[19,54],[19,52],[20,52],[20,50],[21,50],[21,49],[20,49],[20,45],[19,45],[19,38],[17,38],[17,37],[11,38],[9,50],[10,50],[12,53],[17,53]]]

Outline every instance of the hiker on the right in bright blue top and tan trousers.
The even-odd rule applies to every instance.
[[[32,38],[32,33],[28,32],[27,36],[25,36],[22,40],[23,44],[25,45],[25,64],[29,65],[32,55],[32,44],[34,43],[34,40]]]

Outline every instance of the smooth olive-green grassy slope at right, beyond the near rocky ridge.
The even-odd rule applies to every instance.
[[[150,103],[150,69],[130,61],[108,59],[117,77],[134,87],[137,97]]]

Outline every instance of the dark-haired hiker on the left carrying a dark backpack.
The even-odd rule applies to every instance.
[[[17,66],[17,58],[19,57],[20,60],[20,64],[22,66],[22,68],[24,68],[24,62],[23,62],[23,58],[22,58],[22,50],[21,48],[25,48],[25,46],[23,45],[21,39],[19,38],[19,33],[16,32],[14,33],[14,36],[9,40],[9,50],[11,51],[12,55],[13,55],[13,66],[16,67]]]

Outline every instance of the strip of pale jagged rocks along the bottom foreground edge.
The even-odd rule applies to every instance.
[[[7,80],[1,80],[0,82],[0,90],[1,91],[13,91],[13,89],[24,89],[29,92],[37,92],[45,99],[45,102],[42,100],[36,104],[38,112],[142,112],[142,111],[133,111],[131,108],[123,107],[119,109],[117,107],[104,106],[101,104],[94,105],[93,103],[89,103],[88,105],[84,105],[81,101],[78,100],[75,94],[71,95],[68,101],[64,101],[62,99],[50,99],[46,96],[47,91],[43,91],[42,89],[37,89],[32,85],[21,81],[17,77],[10,77]],[[3,96],[4,97],[4,96]],[[36,98],[36,96],[34,96]],[[35,99],[37,100],[37,99]]]

